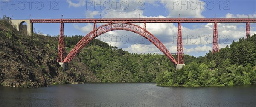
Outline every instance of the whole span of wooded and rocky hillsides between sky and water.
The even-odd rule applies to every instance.
[[[24,28],[26,26],[23,25]],[[66,53],[83,36],[66,36]],[[26,35],[0,20],[0,84],[44,87],[84,82],[157,82],[161,86],[224,86],[256,83],[256,34],[219,53],[184,55],[180,70],[165,55],[128,53],[93,39],[63,71],[56,62],[58,36]],[[173,55],[176,57],[176,55]]]

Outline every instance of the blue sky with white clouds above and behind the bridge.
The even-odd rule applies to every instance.
[[[61,18],[61,15],[63,18],[172,18],[179,17],[179,14],[191,18],[246,18],[248,14],[249,18],[256,18],[256,0],[0,0],[0,6],[0,17],[13,16],[13,19],[29,19],[30,15],[30,18]],[[181,25],[184,53],[204,56],[212,50],[213,23]],[[92,27],[91,23],[64,24],[68,36],[86,35]],[[256,23],[250,23],[250,27],[251,34],[256,33]],[[35,23],[34,28],[35,32],[57,35],[60,24]],[[147,30],[171,53],[176,53],[177,23],[147,23]],[[245,23],[218,23],[218,35],[219,46],[225,47],[233,40],[245,37]],[[111,31],[96,39],[130,53],[162,54],[148,40],[128,31]],[[127,39],[128,42],[124,42]]]

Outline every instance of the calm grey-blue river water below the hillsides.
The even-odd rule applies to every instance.
[[[0,86],[0,107],[256,107],[256,85],[160,87],[156,83]]]

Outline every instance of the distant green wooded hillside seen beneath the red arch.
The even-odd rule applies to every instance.
[[[66,37],[67,51],[82,37]],[[101,82],[156,82],[158,74],[175,69],[165,55],[131,54],[97,39],[85,46],[77,57],[88,65]],[[196,60],[194,56],[184,57],[187,63]]]

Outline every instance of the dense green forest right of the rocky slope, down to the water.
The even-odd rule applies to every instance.
[[[66,37],[71,50],[83,36]],[[184,55],[176,70],[164,55],[128,53],[93,40],[78,55],[101,82],[157,82],[161,86],[224,86],[256,83],[256,35],[241,38],[219,53]],[[176,55],[173,55],[176,57]]]

